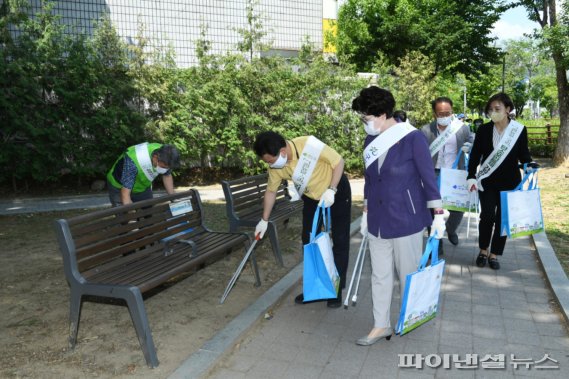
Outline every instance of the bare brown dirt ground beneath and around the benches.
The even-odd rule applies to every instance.
[[[205,204],[206,224],[227,230],[224,204]],[[359,215],[354,206],[354,217]],[[78,343],[68,348],[69,288],[53,220],[85,212],[0,217],[0,377],[166,378],[302,257],[300,216],[280,231],[285,267],[268,238],[256,249],[262,285],[253,286],[249,265],[224,304],[219,299],[244,250],[188,273],[146,297],[145,306],[160,365],[145,363],[126,306],[84,301]]]

